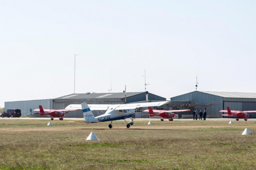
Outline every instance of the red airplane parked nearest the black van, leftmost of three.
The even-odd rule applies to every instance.
[[[35,109],[33,111],[40,111],[39,113],[34,113],[34,114],[40,114],[41,116],[50,115],[53,117],[51,118],[51,120],[53,120],[54,118],[59,118],[60,120],[63,120],[63,117],[65,116],[65,114],[72,110],[80,110],[80,109],[60,109],[60,110],[43,109],[43,107],[39,105],[39,109]]]

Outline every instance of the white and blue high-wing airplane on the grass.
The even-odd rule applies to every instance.
[[[108,125],[109,128],[112,128],[113,120],[124,120],[126,122],[125,119],[130,118],[131,121],[128,123],[126,122],[126,127],[130,128],[130,125],[133,125],[133,118],[137,108],[162,106],[164,104],[168,104],[169,102],[170,101],[131,104],[87,104],[84,102],[82,104],[70,104],[65,109],[82,109],[85,122],[94,123],[111,121],[111,123]],[[94,117],[92,110],[106,110],[106,113]]]

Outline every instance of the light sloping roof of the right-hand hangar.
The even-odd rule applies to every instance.
[[[221,96],[226,98],[256,98],[256,93],[246,93],[246,92],[208,92],[208,91],[198,91],[202,93],[212,94],[215,96]]]

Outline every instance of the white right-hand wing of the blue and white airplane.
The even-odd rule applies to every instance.
[[[150,106],[162,106],[168,103],[170,103],[170,101],[121,104],[120,106],[116,107],[116,110],[136,109],[136,108],[150,107]]]

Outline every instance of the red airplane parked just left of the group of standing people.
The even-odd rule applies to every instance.
[[[174,118],[175,113],[172,112],[188,112],[190,109],[186,110],[152,110],[151,107],[148,107],[148,110],[144,110],[143,112],[149,112],[149,114],[142,114],[142,115],[149,115],[150,117],[152,116],[161,116],[162,119],[161,121],[164,121],[165,118],[167,118],[169,121],[173,121],[172,118]],[[157,112],[157,113],[154,113]]]

